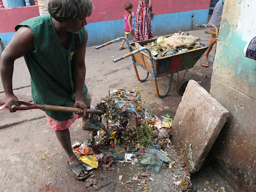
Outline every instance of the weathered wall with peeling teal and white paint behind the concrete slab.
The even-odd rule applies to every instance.
[[[230,112],[211,156],[238,191],[256,188],[256,61],[243,56],[256,36],[255,5],[225,1],[211,80],[210,93]]]

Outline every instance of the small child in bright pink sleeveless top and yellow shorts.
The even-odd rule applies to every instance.
[[[124,37],[127,38],[129,34],[132,35],[132,42],[134,42],[134,28],[133,28],[133,20],[132,20],[132,12],[133,5],[131,3],[126,3],[124,5],[125,14],[124,14]],[[125,40],[122,41],[122,44],[119,48],[119,50],[123,50],[124,48]]]

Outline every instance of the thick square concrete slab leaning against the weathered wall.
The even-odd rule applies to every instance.
[[[172,142],[189,172],[198,172],[228,119],[228,110],[194,80],[186,91],[172,124]]]

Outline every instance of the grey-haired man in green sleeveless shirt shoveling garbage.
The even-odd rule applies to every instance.
[[[31,89],[36,104],[49,104],[84,109],[75,113],[45,111],[50,127],[55,130],[65,149],[68,167],[77,180],[88,172],[74,154],[68,128],[83,116],[91,96],[84,84],[85,50],[88,33],[86,17],[92,13],[91,0],[50,0],[47,15],[35,17],[15,27],[16,33],[0,57],[0,72],[6,94],[5,107],[20,106],[12,91],[14,60],[24,55],[31,76]]]

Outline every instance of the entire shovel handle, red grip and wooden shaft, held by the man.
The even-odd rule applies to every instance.
[[[55,105],[37,105],[37,104],[32,104],[24,101],[19,101],[19,103],[20,105],[25,105],[26,107],[12,105],[11,109],[16,111],[30,110],[30,109],[44,109],[49,111],[62,111],[62,112],[79,112],[84,110],[82,108],[74,108],[74,107],[64,107],[64,106],[55,106]],[[96,109],[87,109],[87,113],[103,115],[104,111],[96,110]]]

